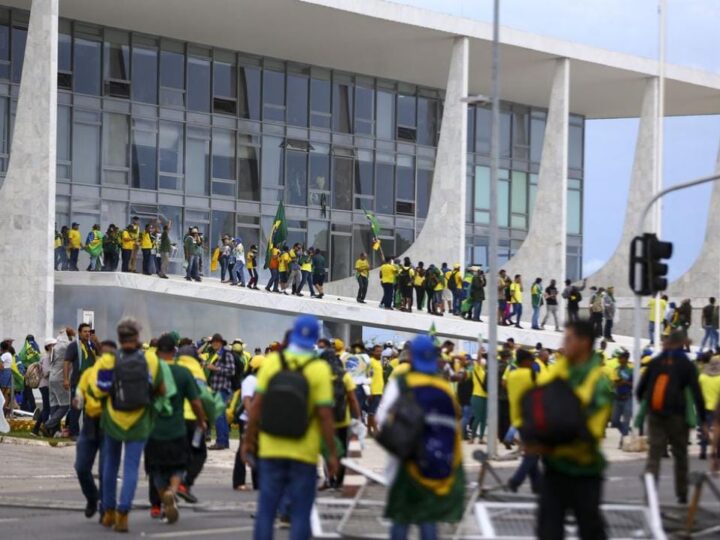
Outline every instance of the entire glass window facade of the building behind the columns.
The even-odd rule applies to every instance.
[[[0,176],[27,23],[0,8]],[[226,233],[263,246],[283,201],[288,240],[326,250],[339,279],[360,251],[379,262],[364,210],[376,213],[386,254],[404,251],[424,224],[442,90],[65,19],[58,60],[58,227],[160,217],[176,240],[197,226],[212,246]],[[481,262],[489,114],[469,114],[468,260]],[[505,256],[532,212],[544,119],[527,107],[503,112]],[[579,118],[569,218],[580,222],[582,135]]]

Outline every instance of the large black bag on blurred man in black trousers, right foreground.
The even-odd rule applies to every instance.
[[[592,440],[582,403],[567,381],[554,379],[528,390],[520,407],[520,435],[525,443],[552,448],[577,440]]]

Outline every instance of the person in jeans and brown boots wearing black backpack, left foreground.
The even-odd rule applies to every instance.
[[[104,527],[128,531],[138,470],[152,431],[152,402],[165,394],[157,356],[142,350],[140,325],[123,319],[117,327],[120,351],[103,354],[96,363],[97,377],[90,391],[103,400],[100,416],[103,444],[102,506]],[[123,461],[123,483],[117,500],[117,476]]]

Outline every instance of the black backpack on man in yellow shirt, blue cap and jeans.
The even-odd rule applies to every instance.
[[[280,353],[281,369],[270,379],[263,395],[262,431],[288,439],[299,439],[305,435],[310,427],[310,385],[303,371],[315,360],[317,358],[308,360],[299,369],[290,369],[285,354]]]

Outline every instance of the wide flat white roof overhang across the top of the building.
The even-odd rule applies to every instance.
[[[2,3],[28,8],[28,0]],[[470,93],[490,92],[489,24],[384,0],[62,0],[63,17],[444,88],[452,39],[470,38]],[[501,29],[502,99],[547,107],[571,59],[572,112],[634,117],[657,62]],[[720,113],[720,74],[668,65],[666,114]]]

